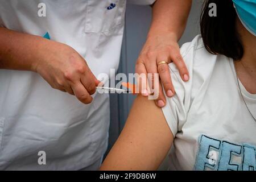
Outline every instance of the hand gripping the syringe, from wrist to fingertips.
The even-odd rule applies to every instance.
[[[86,61],[73,49],[62,43],[46,40],[38,49],[34,71],[52,88],[75,95],[84,104],[92,102],[92,95],[100,83]]]

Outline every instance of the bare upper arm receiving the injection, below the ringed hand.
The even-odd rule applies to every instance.
[[[154,101],[138,96],[101,170],[158,169],[173,139],[162,110]]]

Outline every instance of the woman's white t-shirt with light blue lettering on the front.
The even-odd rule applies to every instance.
[[[238,90],[233,60],[212,55],[201,36],[181,47],[191,79],[183,82],[170,64],[176,94],[163,108],[175,136],[171,170],[256,170],[256,122]],[[256,116],[256,94],[241,84]]]

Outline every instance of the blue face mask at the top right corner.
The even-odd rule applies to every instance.
[[[256,36],[256,0],[233,0],[243,26]]]

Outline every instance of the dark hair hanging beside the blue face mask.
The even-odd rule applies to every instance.
[[[210,16],[211,3],[217,7],[217,16]],[[209,7],[210,6],[210,7]],[[234,60],[243,56],[243,46],[236,28],[237,13],[232,0],[206,0],[200,26],[205,48],[213,54],[221,54]]]

